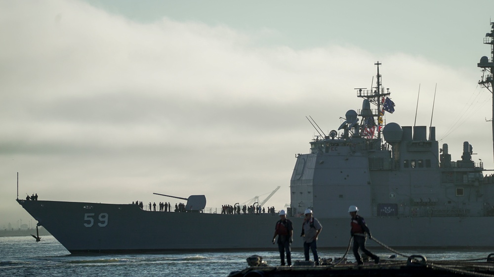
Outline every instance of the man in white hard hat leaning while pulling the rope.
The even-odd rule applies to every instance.
[[[355,256],[355,260],[357,260],[357,263],[359,265],[363,265],[364,262],[362,262],[362,258],[359,255],[360,248],[362,252],[366,253],[374,260],[374,263],[377,264],[379,263],[379,257],[372,254],[371,251],[367,250],[366,248],[367,238],[365,233],[367,233],[369,239],[371,239],[371,231],[369,230],[369,227],[367,227],[364,218],[357,214],[358,210],[359,208],[353,205],[348,208],[348,212],[352,216],[352,221],[350,221],[350,226],[352,227],[352,229],[350,230],[350,235],[353,236],[353,255]]]

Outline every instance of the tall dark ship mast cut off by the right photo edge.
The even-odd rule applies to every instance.
[[[491,59],[484,56],[480,58],[480,63],[477,64],[477,67],[482,68],[482,79],[479,81],[479,85],[487,88],[491,93],[493,93],[494,88],[494,22],[491,22],[491,33],[487,33],[486,37],[484,37],[484,44],[491,44]],[[493,128],[493,151],[494,151],[494,95],[493,95],[493,119],[492,128]],[[493,152],[494,155],[494,152]]]

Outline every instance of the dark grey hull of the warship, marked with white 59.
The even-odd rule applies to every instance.
[[[276,250],[277,215],[145,211],[135,205],[18,200],[71,253]],[[316,215],[317,216],[317,215]],[[302,219],[292,247],[302,247]],[[318,218],[319,248],[345,248],[350,218]],[[492,217],[369,217],[372,235],[391,247],[494,247]],[[377,246],[369,241],[369,246]]]

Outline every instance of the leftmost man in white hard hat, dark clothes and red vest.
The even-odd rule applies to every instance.
[[[273,244],[278,236],[278,250],[280,251],[281,265],[285,265],[285,251],[287,252],[287,264],[291,266],[290,243],[293,242],[293,225],[285,210],[280,210],[280,220],[276,222],[275,234],[273,235]]]

